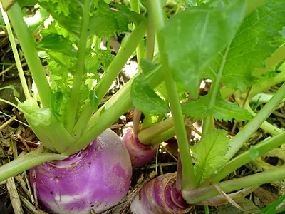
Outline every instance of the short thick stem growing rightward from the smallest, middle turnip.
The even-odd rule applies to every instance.
[[[167,120],[156,123],[153,126],[142,129],[142,131],[138,133],[138,139],[142,144],[152,145],[152,138],[164,133],[168,129],[172,128],[173,125],[173,118],[168,118]]]

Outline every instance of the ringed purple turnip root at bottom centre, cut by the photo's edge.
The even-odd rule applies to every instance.
[[[134,214],[182,214],[190,210],[175,187],[176,174],[167,173],[150,180],[135,196],[130,209]]]

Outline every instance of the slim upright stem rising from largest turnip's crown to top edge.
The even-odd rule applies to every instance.
[[[66,130],[72,133],[76,121],[78,97],[81,88],[82,77],[85,72],[85,56],[86,44],[88,39],[88,25],[89,25],[89,6],[90,0],[85,0],[83,17],[81,23],[81,35],[78,44],[76,73],[73,77],[73,86],[71,90],[71,98],[68,101],[68,108],[66,109]]]

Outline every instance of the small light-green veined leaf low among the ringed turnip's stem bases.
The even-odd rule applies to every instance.
[[[195,163],[197,184],[215,173],[227,159],[224,156],[229,148],[227,131],[212,129],[203,136],[195,146],[192,146],[192,157]]]

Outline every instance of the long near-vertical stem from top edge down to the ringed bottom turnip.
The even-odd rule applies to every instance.
[[[148,1],[152,10],[153,21],[155,23],[155,30],[159,32],[165,26],[165,14],[162,11],[162,3],[160,0]],[[195,188],[194,169],[192,159],[190,157],[190,148],[187,141],[187,133],[185,129],[184,117],[180,107],[180,100],[177,93],[175,81],[172,78],[172,73],[167,66],[167,54],[163,50],[163,41],[160,34],[157,34],[158,46],[160,49],[160,58],[162,61],[162,69],[164,71],[165,86],[167,89],[167,96],[170,101],[170,109],[173,116],[177,142],[180,148],[180,158],[182,163],[182,188],[190,190]]]

